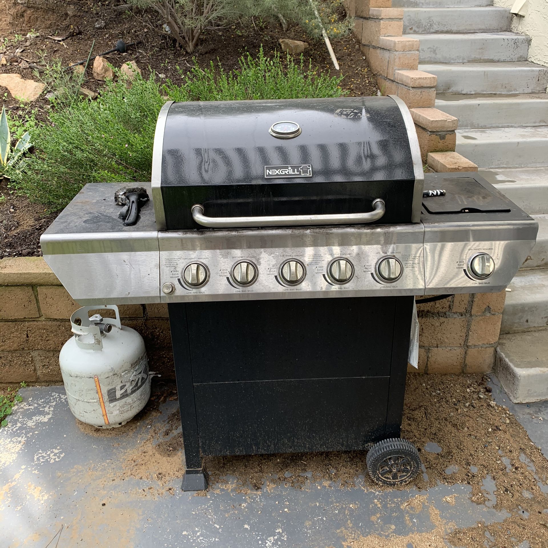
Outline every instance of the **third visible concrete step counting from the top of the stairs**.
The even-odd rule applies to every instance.
[[[433,33],[404,36],[420,40],[421,63],[526,61],[531,41],[529,36],[513,32]],[[492,92],[493,89],[490,91]]]

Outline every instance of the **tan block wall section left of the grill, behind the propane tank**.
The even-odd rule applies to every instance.
[[[42,258],[0,260],[0,383],[61,383],[59,351],[78,308]],[[174,379],[167,305],[118,309],[122,323],[144,338],[151,371]]]

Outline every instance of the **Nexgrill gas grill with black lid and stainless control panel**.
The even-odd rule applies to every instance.
[[[372,477],[414,477],[414,296],[500,291],[538,230],[477,173],[425,179],[395,96],[167,103],[140,185],[136,224],[86,185],[42,250],[81,305],[168,303],[185,490],[203,455],[373,444]]]

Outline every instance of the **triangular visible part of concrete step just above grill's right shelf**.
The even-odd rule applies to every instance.
[[[548,168],[482,169],[479,174],[529,215],[548,213]]]

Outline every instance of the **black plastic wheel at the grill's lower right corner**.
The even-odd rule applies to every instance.
[[[410,482],[421,467],[419,452],[406,439],[383,439],[369,449],[367,471],[374,482],[398,486]]]

